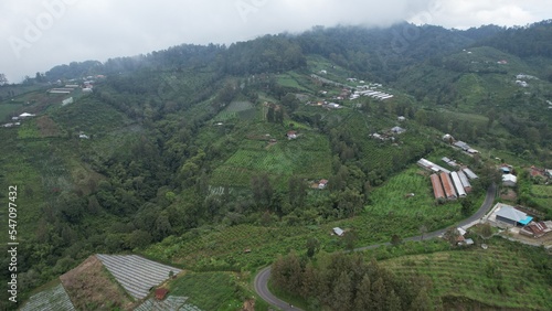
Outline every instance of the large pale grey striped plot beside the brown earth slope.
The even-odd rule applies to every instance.
[[[117,281],[136,299],[149,294],[149,289],[174,275],[181,269],[148,260],[136,255],[96,255]]]

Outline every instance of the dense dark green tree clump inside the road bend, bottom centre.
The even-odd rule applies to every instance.
[[[315,259],[316,258],[316,259]],[[290,253],[272,266],[278,290],[300,297],[309,310],[434,310],[432,283],[423,277],[403,279],[359,254],[320,254],[315,258]]]

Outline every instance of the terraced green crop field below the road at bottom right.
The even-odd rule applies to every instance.
[[[422,275],[433,282],[433,298],[467,298],[492,308],[549,310],[552,305],[550,274],[535,269],[534,253],[541,249],[496,237],[489,248],[403,256],[381,261],[399,276]],[[545,254],[541,254],[546,260]],[[446,302],[446,299],[444,299]],[[476,305],[477,303],[474,303]],[[445,304],[446,307],[446,304]]]

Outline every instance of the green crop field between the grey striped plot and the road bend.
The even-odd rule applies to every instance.
[[[244,224],[169,237],[150,246],[146,254],[189,269],[240,271],[267,265],[278,254],[287,254],[288,249],[302,249],[307,235],[315,233],[299,226],[282,228]],[[245,249],[251,253],[245,253]]]

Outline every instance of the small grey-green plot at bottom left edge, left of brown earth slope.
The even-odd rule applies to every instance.
[[[60,283],[54,288],[41,291],[33,294],[29,301],[21,308],[22,311],[36,311],[36,310],[60,310],[71,311],[75,310],[71,299],[65,291],[65,288]]]

